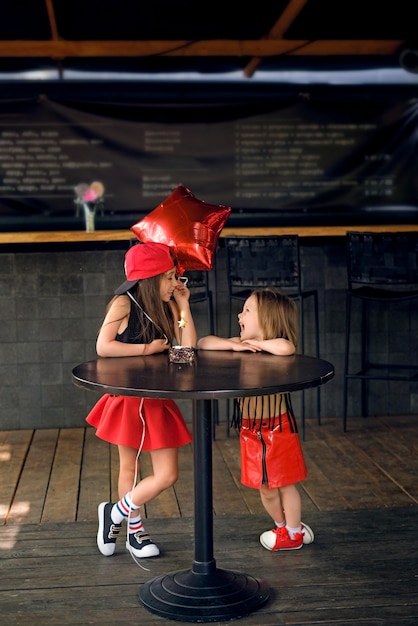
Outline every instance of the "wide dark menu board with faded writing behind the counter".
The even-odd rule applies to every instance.
[[[93,181],[105,187],[103,228],[129,228],[179,184],[231,206],[228,224],[415,216],[417,111],[417,99],[393,97],[203,108],[3,101],[0,229],[83,228],[74,190]]]

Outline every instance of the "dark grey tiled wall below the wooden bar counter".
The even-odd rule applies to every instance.
[[[321,389],[321,413],[342,415],[345,331],[345,241],[302,239],[306,288],[319,294],[321,358],[330,361],[335,378]],[[7,246],[0,248],[0,429],[75,427],[98,399],[72,383],[78,363],[94,359],[95,337],[113,290],[123,281],[126,242]],[[219,248],[210,274],[217,309],[217,333],[227,335],[224,250]],[[238,304],[237,304],[238,307]],[[235,309],[234,315],[238,312]],[[205,304],[194,306],[200,335],[208,332]],[[305,353],[314,354],[313,319],[306,309]],[[418,315],[407,308],[395,322],[375,312],[377,351],[398,352],[417,362]],[[358,316],[355,323],[359,322]],[[356,335],[355,338],[358,336]],[[407,353],[405,355],[405,353]],[[300,410],[298,394],[295,409]],[[315,390],[305,393],[306,418],[315,417]],[[225,403],[226,404],[226,403]],[[191,402],[179,402],[190,420]],[[220,419],[226,408],[220,403]],[[418,414],[418,385],[374,382],[371,414]],[[359,384],[350,383],[349,415],[359,415]]]

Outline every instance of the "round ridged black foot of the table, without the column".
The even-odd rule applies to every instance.
[[[258,609],[269,596],[264,580],[217,568],[204,575],[187,569],[157,576],[139,593],[151,613],[185,622],[238,619]]]

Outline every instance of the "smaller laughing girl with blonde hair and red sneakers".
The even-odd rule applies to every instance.
[[[298,311],[294,300],[276,289],[253,291],[238,315],[239,337],[213,335],[198,342],[201,350],[234,350],[292,355],[296,350]],[[260,536],[267,550],[296,550],[313,541],[301,522],[296,483],[307,470],[297,434],[290,395],[274,394],[236,400],[234,419],[240,429],[241,482],[260,490],[275,522]]]

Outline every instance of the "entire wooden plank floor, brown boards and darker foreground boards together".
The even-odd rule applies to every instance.
[[[309,476],[303,519],[315,542],[270,553],[270,520],[258,493],[239,482],[238,439],[213,443],[214,544],[218,567],[263,578],[266,604],[243,626],[418,623],[418,420],[307,422]],[[148,472],[149,458],[142,456]],[[0,623],[187,623],[152,615],[141,585],[188,569],[193,559],[192,445],[181,449],[177,484],[146,507],[161,548],[139,567],[124,549],[97,551],[97,504],[116,498],[117,452],[94,430],[0,432]]]

